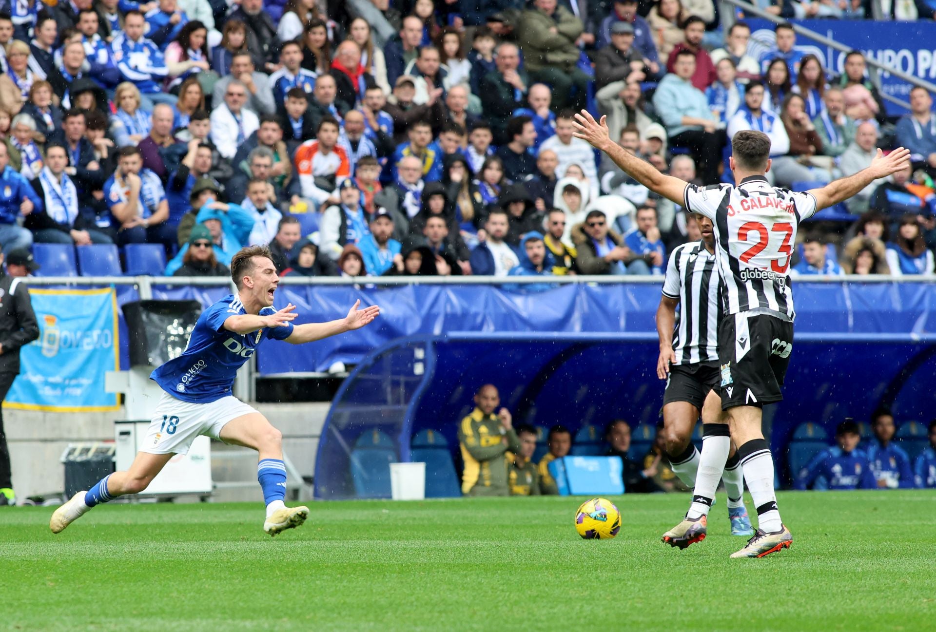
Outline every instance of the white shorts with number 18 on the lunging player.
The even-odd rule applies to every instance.
[[[193,404],[168,393],[159,397],[140,452],[185,454],[196,437],[220,438],[221,428],[241,415],[256,412],[233,395],[208,404]]]

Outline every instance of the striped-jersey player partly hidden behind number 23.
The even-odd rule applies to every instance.
[[[663,426],[670,467],[687,487],[696,487],[696,472],[724,468],[731,535],[751,536],[753,528],[744,508],[744,477],[738,454],[730,446],[727,421],[718,396],[718,323],[722,319],[720,280],[715,268],[715,237],[709,218],[694,214],[701,239],[670,253],[663,296],[656,311],[660,357],[656,375],[666,381]],[[676,308],[680,307],[679,316]],[[695,422],[702,414],[702,452],[692,442]],[[733,446],[731,446],[733,447]],[[727,459],[727,464],[725,462]],[[717,481],[716,481],[717,482]],[[714,495],[714,490],[712,496]],[[703,518],[703,521],[706,519]],[[684,534],[682,534],[684,536]],[[663,541],[684,549],[705,533]]]

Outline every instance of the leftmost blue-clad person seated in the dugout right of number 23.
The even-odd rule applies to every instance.
[[[803,467],[794,481],[794,489],[874,489],[877,483],[871,471],[868,455],[857,449],[861,436],[858,424],[846,419],[835,429],[839,444],[816,454]]]

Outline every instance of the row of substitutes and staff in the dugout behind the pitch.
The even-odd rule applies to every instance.
[[[662,425],[649,445],[632,450],[631,426],[608,422],[604,432],[587,426],[578,433],[582,451],[574,452],[572,433],[561,424],[544,433],[513,424],[510,412],[498,410],[497,388],[486,384],[475,394],[475,409],[461,420],[458,436],[463,465],[461,491],[466,496],[540,496],[559,494],[549,464],[570,454],[616,456],[622,460],[624,489],[633,493],[690,491],[677,478],[665,451]],[[587,430],[591,429],[592,433]],[[907,489],[936,487],[936,420],[929,423],[929,445],[911,457],[895,441],[896,425],[888,409],[870,418],[872,436],[862,439],[859,425],[846,420],[836,429],[836,443],[815,449],[800,471],[791,472],[799,490]],[[545,436],[544,436],[545,435]],[[918,441],[923,442],[923,441]],[[534,461],[537,446],[547,451]]]

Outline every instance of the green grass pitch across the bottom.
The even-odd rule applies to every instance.
[[[314,503],[275,539],[257,504],[110,505],[59,536],[0,510],[2,630],[933,630],[936,493],[785,493],[789,551],[731,560],[659,541],[688,496],[621,496],[621,534],[579,539],[584,498]],[[750,500],[749,500],[750,508]]]

